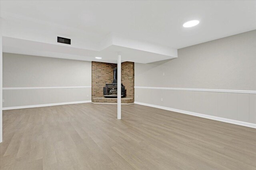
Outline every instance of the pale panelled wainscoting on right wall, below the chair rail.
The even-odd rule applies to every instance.
[[[135,87],[135,103],[256,123],[255,92],[236,93]],[[161,99],[163,101],[161,101]],[[148,105],[148,106],[149,106]]]

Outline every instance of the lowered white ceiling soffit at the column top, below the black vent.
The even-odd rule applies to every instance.
[[[139,44],[138,41],[134,42],[127,39],[116,39],[113,36],[110,36],[109,38],[111,43],[105,43],[103,46],[106,48],[101,48],[99,51],[96,51],[92,49],[68,47],[68,45],[56,45],[12,37],[3,37],[3,51],[5,53],[82,61],[100,61],[106,63],[117,63],[118,53],[122,55],[122,61],[132,61],[136,63],[152,63],[177,57],[177,50],[170,47],[145,43]],[[136,43],[136,47],[134,47],[134,43]],[[102,59],[98,60],[95,59],[95,57],[102,57]]]

